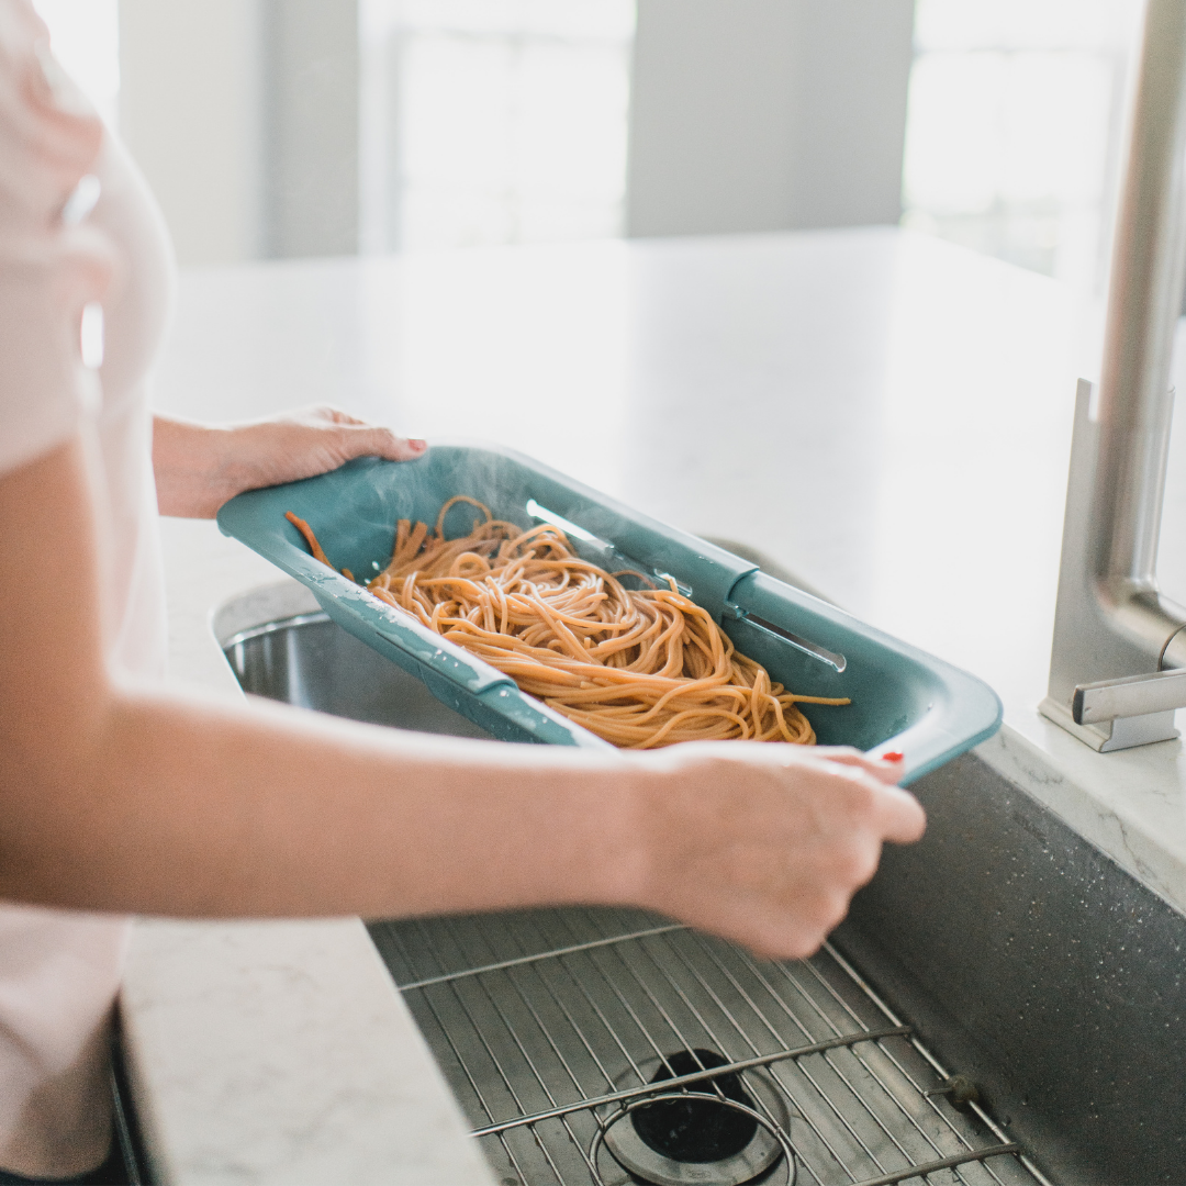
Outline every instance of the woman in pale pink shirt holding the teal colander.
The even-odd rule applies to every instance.
[[[129,912],[631,904],[771,956],[815,950],[882,841],[922,834],[890,764],[500,746],[159,686],[158,506],[209,517],[242,490],[425,445],[325,410],[151,421],[167,240],[46,44],[27,0],[0,0],[0,1180],[69,1180],[108,1153]],[[85,174],[101,197],[81,217],[66,202]],[[78,346],[95,301],[97,372]]]

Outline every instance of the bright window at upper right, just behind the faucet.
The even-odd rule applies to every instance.
[[[903,223],[1097,291],[1139,9],[918,0]]]

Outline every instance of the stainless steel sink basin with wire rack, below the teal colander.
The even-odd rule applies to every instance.
[[[215,632],[248,691],[484,735],[300,586]],[[926,837],[810,961],[639,911],[371,924],[503,1186],[1181,1182],[1186,919],[975,754],[913,790]]]

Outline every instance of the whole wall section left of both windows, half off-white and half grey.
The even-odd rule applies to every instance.
[[[183,266],[357,250],[356,0],[120,0],[120,59]]]

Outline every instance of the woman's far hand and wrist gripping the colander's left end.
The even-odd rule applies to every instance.
[[[157,416],[152,461],[161,515],[213,518],[244,490],[312,478],[356,457],[412,461],[426,448],[337,408],[314,407],[219,427]]]

